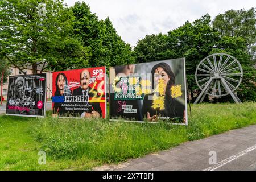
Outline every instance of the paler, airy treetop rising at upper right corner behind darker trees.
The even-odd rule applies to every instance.
[[[228,10],[218,14],[212,24],[222,36],[242,37],[251,55],[256,53],[256,8]]]

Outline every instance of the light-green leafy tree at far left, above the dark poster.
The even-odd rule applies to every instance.
[[[73,37],[72,11],[61,0],[43,2],[0,2],[0,55],[22,72],[25,65],[32,65],[33,73],[39,64],[40,72],[88,65],[86,49]]]

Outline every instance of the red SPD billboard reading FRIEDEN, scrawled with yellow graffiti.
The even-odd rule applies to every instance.
[[[53,73],[54,117],[105,118],[105,67]]]

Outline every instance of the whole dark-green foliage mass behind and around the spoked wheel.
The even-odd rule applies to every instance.
[[[251,56],[247,53],[246,39],[240,36],[221,36],[221,32],[210,26],[208,14],[193,23],[185,22],[183,26],[169,31],[167,35],[147,35],[139,40],[134,48],[138,63],[185,57],[188,88],[192,93],[192,101],[196,99],[193,91],[199,89],[195,81],[197,65],[204,57],[220,52],[236,57],[242,65],[243,81],[237,89],[238,97],[241,101],[255,101],[255,69]],[[233,102],[231,97],[223,97],[215,101]]]

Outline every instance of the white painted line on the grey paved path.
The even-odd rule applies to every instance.
[[[254,149],[256,149],[256,144],[254,146],[251,146],[250,148],[247,148],[246,150],[244,150],[242,152],[239,152],[236,155],[233,155],[233,156],[230,156],[227,159],[221,160],[221,162],[219,162],[217,164],[214,164],[213,166],[204,169],[204,171],[214,171],[217,168],[220,168],[221,166],[224,166],[225,164],[228,164],[228,163],[232,162],[233,160],[236,160],[237,158],[240,158],[241,156],[247,154],[248,152],[250,152]]]

